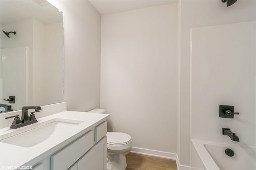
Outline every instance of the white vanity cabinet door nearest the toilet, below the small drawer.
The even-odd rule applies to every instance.
[[[80,160],[78,170],[106,170],[107,137],[105,136]]]

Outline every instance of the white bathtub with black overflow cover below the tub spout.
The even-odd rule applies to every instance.
[[[198,140],[192,143],[206,170],[256,170],[255,148]],[[234,151],[234,156],[225,154],[228,148]]]

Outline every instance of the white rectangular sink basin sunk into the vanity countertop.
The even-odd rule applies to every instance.
[[[82,123],[83,121],[74,121],[68,119],[52,119],[44,123],[38,123],[36,126],[31,126],[27,131],[17,134],[15,132],[11,137],[2,139],[2,143],[8,143],[11,145],[17,145],[20,147],[33,147],[42,143],[52,137],[56,137],[65,133],[66,131],[72,130],[72,127],[75,127]],[[39,127],[38,127],[39,126]],[[24,129],[22,129],[24,131]]]

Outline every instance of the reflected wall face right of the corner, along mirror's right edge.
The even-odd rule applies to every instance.
[[[62,101],[63,91],[63,23],[45,25],[45,100]]]

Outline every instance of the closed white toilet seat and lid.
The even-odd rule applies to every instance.
[[[130,135],[122,132],[107,132],[107,149],[124,150],[132,147]]]

